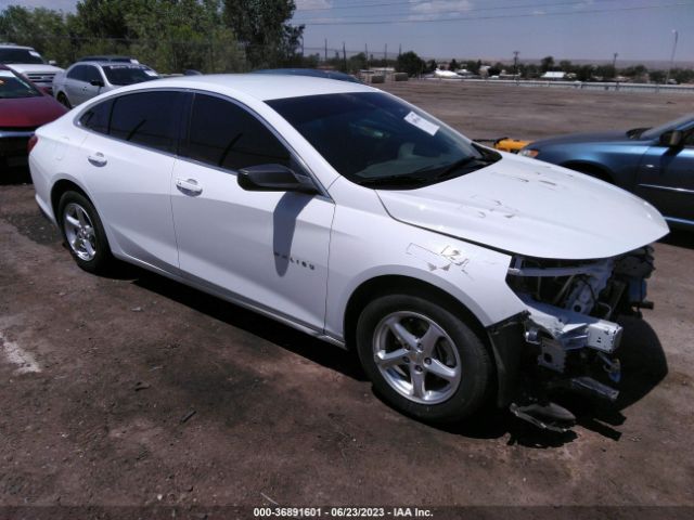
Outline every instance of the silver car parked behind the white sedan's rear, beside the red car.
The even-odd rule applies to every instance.
[[[159,75],[139,63],[77,62],[53,78],[53,95],[68,108],[126,84],[158,79]]]

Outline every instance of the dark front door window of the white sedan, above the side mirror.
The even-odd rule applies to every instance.
[[[240,106],[195,94],[188,156],[228,170],[256,165],[290,166],[290,153],[270,130]]]

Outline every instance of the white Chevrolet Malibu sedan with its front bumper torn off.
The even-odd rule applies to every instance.
[[[427,421],[492,400],[564,430],[552,389],[614,400],[615,317],[650,304],[647,245],[668,232],[627,192],[327,79],[126,87],[31,145],[36,200],[79,266],[125,260],[354,347]]]

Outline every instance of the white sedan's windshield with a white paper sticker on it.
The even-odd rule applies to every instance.
[[[378,92],[321,94],[267,102],[352,182],[421,187],[501,158],[432,116]]]

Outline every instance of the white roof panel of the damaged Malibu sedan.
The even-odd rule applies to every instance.
[[[361,83],[338,81],[335,79],[308,76],[287,76],[272,74],[215,74],[202,76],[180,76],[158,79],[155,83],[145,82],[118,89],[119,92],[152,88],[204,89],[220,94],[244,94],[260,101],[305,95],[338,94],[350,92],[381,92],[378,89]]]

